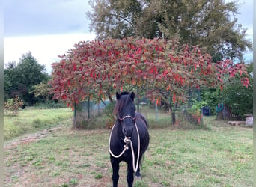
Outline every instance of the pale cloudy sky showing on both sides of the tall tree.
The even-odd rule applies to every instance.
[[[252,41],[253,0],[239,3],[237,23],[248,29],[246,38]],[[94,40],[86,17],[89,10],[87,0],[4,0],[4,63],[19,62],[22,54],[31,52],[50,74],[58,55],[64,55],[79,41]],[[252,60],[252,52],[244,58]]]

